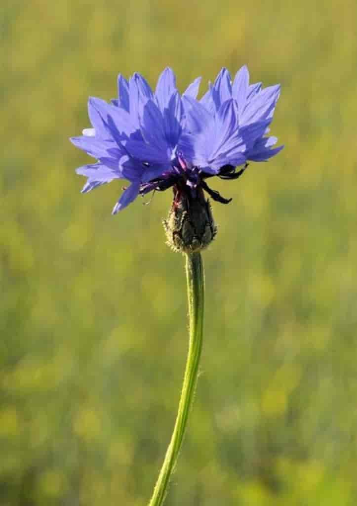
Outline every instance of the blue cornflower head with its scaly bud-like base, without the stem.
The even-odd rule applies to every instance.
[[[71,138],[75,146],[97,159],[77,168],[77,174],[87,177],[83,193],[114,179],[130,182],[113,214],[139,194],[173,187],[171,218],[165,228],[175,249],[187,249],[186,243],[191,250],[204,247],[215,235],[203,191],[222,203],[231,199],[212,190],[208,178],[237,179],[248,161],[265,161],[283,148],[273,148],[277,139],[267,135],[279,85],[265,89],[261,83],[249,85],[246,66],[232,81],[223,68],[197,100],[200,80],[195,79],[181,96],[170,68],[160,75],[155,92],[138,73],[129,80],[119,75],[118,98],[110,104],[90,98],[88,115],[93,128]],[[197,216],[195,220],[190,216],[195,213],[203,213],[199,226],[193,223]],[[189,236],[186,239],[183,227]],[[195,237],[196,246],[192,245]]]

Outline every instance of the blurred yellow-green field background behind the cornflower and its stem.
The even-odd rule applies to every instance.
[[[6,2],[1,9],[0,504],[145,506],[187,351],[171,192],[111,209],[69,136],[116,76],[282,84],[286,145],[214,188],[201,376],[167,506],[357,503],[357,4]]]

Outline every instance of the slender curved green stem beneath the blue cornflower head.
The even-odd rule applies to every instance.
[[[197,384],[198,367],[202,350],[204,313],[204,271],[200,252],[187,254],[186,278],[189,301],[190,342],[184,384],[171,441],[168,445],[149,506],[160,506],[165,498],[167,485],[185,434],[187,419]]]

